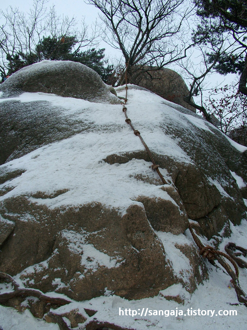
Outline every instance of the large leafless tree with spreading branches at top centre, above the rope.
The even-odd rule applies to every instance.
[[[128,82],[134,71],[163,68],[186,56],[186,25],[192,9],[184,0],[88,0],[101,12],[104,40],[124,55]],[[185,32],[186,29],[186,32]],[[155,67],[155,69],[154,69]],[[124,68],[125,71],[125,68]],[[123,82],[119,80],[119,84]]]

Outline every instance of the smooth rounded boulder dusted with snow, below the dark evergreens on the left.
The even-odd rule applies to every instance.
[[[90,102],[119,104],[113,87],[105,84],[93,70],[78,62],[44,60],[24,67],[2,85],[2,97],[21,92],[52,93]]]

